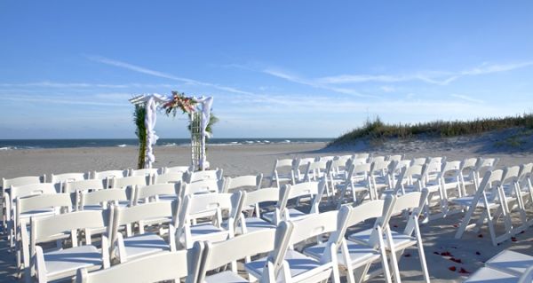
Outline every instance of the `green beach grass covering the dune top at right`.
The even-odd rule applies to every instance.
[[[493,130],[511,128],[533,129],[533,114],[519,114],[501,118],[479,118],[471,121],[434,121],[419,123],[386,123],[379,116],[367,119],[362,127],[350,130],[335,138],[329,145],[353,144],[360,140],[370,143],[382,142],[390,138],[449,138],[486,133]]]

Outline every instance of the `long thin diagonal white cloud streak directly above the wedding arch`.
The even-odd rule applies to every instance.
[[[211,88],[216,89],[216,90],[223,90],[223,91],[237,93],[237,94],[244,94],[244,95],[251,95],[251,96],[256,95],[256,93],[253,93],[251,91],[239,90],[239,89],[236,89],[234,87],[228,87],[228,86],[224,86],[224,85],[219,85],[217,83],[206,83],[206,82],[201,82],[201,81],[189,79],[189,78],[186,78],[186,77],[181,77],[181,76],[177,76],[177,75],[171,75],[171,74],[168,74],[168,73],[155,71],[155,70],[147,68],[147,67],[140,67],[140,66],[137,66],[137,65],[133,65],[133,64],[126,63],[126,62],[119,61],[119,60],[115,60],[115,59],[108,59],[108,58],[101,57],[101,56],[88,56],[87,58],[89,58],[89,59],[91,59],[93,61],[102,63],[102,64],[109,65],[109,66],[121,67],[121,68],[128,69],[128,70],[131,70],[131,71],[134,71],[134,72],[137,72],[137,73],[146,74],[146,75],[153,75],[153,76],[157,76],[157,77],[161,77],[161,78],[164,78],[164,79],[169,79],[169,80],[177,81],[177,82],[181,82],[181,83],[187,83],[187,84],[211,87]]]

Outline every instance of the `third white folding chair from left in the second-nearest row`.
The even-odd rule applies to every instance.
[[[241,197],[241,192],[186,195],[174,218],[180,248],[191,248],[197,240],[217,242],[234,237],[235,209]],[[224,211],[228,211],[227,221],[222,217]],[[201,218],[211,221],[197,223]]]

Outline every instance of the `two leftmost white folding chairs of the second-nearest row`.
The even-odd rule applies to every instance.
[[[112,207],[105,210],[84,210],[56,216],[32,217],[31,232],[22,230],[23,246],[29,245],[31,267],[26,266],[25,274],[36,272],[39,282],[72,277],[76,269],[85,267],[90,270],[107,268],[109,258],[116,257],[120,263],[162,251],[175,250],[174,229],[170,229],[168,240],[153,232],[145,232],[143,221],[162,218],[174,214],[175,205],[159,201],[131,208]],[[131,224],[138,224],[139,233],[133,234]],[[126,226],[126,238],[119,228]],[[101,236],[100,248],[91,244],[85,235],[81,245],[78,232],[107,227]],[[129,227],[129,228],[128,228]],[[66,233],[68,232],[68,233]],[[68,235],[72,248],[43,251],[40,244],[56,241]],[[108,241],[109,239],[110,241]],[[27,277],[29,279],[29,276]]]

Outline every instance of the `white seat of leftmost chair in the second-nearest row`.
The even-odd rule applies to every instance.
[[[79,268],[98,270],[102,265],[102,255],[98,248],[87,245],[65,248],[44,253],[47,277],[60,279],[75,275]]]

